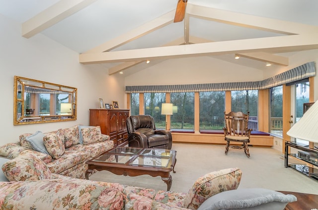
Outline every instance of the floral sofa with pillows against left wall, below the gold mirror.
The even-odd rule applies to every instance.
[[[33,154],[43,160],[52,173],[85,178],[85,162],[113,148],[109,136],[99,126],[76,125],[52,132],[21,134],[19,142],[0,146],[0,156],[14,158]]]

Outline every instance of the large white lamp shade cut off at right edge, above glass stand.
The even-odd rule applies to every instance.
[[[318,143],[318,102],[312,105],[303,117],[287,131],[287,135]]]

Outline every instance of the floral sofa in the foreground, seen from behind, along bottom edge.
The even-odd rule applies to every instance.
[[[239,187],[242,173],[239,168],[205,174],[195,181],[188,193],[155,192],[154,189],[54,174],[39,157],[30,153],[6,161],[1,168],[8,181],[0,182],[0,209],[217,210],[226,209],[225,206],[236,209],[233,208],[233,202],[235,205],[241,205],[244,201],[251,207],[250,210],[255,210],[254,204],[257,204],[256,209],[262,206],[261,209],[266,210],[264,205],[274,203],[278,203],[280,208],[269,206],[267,209],[280,210],[284,209],[288,202],[295,200],[293,195],[275,191],[267,192],[266,197],[257,194],[256,199],[251,199],[251,195],[255,194],[253,190],[248,190],[251,193],[244,200],[236,201],[234,198],[237,195],[224,199],[222,194],[235,192]],[[221,195],[221,200],[212,203],[209,201],[218,195]],[[250,204],[251,200],[253,205]],[[229,204],[228,201],[232,203]]]

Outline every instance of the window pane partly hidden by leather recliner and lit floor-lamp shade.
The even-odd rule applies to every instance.
[[[156,128],[165,128],[165,115],[161,115],[161,104],[165,103],[165,93],[145,93],[145,114],[154,117]]]

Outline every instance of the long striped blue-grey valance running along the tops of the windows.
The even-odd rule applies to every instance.
[[[306,79],[316,75],[315,62],[308,62],[268,79],[255,82],[227,82],[189,85],[144,85],[126,86],[125,93],[172,93],[172,92],[203,92],[203,91],[238,91],[262,90],[286,83]]]

